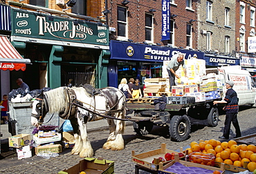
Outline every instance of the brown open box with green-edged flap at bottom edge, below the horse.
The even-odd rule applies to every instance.
[[[73,174],[82,171],[93,174],[111,174],[114,173],[114,162],[100,158],[86,157],[75,166],[60,171],[58,174]]]

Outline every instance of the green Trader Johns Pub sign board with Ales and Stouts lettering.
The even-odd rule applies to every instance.
[[[97,23],[12,9],[12,35],[77,43],[109,45],[109,28]],[[77,24],[77,25],[75,25]]]

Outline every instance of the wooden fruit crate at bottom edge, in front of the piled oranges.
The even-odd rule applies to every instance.
[[[167,171],[168,170],[167,168],[169,168],[170,166],[173,166],[175,162],[179,162],[180,164],[182,164],[185,167],[197,167],[198,169],[195,168],[196,173],[202,173],[202,172],[200,172],[201,168],[208,169],[210,171],[221,171],[221,173],[224,173],[223,164],[221,164],[221,168],[217,168],[214,166],[206,166],[203,164],[196,164],[193,162],[186,162],[186,161],[180,160],[179,155],[175,155],[174,160],[172,160],[172,162],[169,162],[168,164],[165,164],[165,165],[163,165],[163,163],[159,164],[158,174],[170,174],[170,173],[176,174],[173,171]],[[192,171],[190,171],[190,173],[192,173]]]

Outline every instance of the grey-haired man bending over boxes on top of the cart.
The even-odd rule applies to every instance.
[[[179,66],[182,65],[183,71],[185,74],[185,77],[187,77],[187,72],[186,72],[186,66],[185,66],[185,61],[184,55],[179,54],[177,58],[172,58],[169,64],[167,65],[167,72],[169,75],[169,81],[170,81],[170,91],[172,91],[172,86],[175,86],[175,77],[179,79],[179,75],[176,75],[176,70],[179,69]]]

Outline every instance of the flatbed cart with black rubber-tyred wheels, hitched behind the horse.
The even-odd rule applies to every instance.
[[[128,119],[136,119],[134,131],[138,135],[147,135],[154,125],[169,126],[172,139],[182,142],[190,135],[190,117],[194,119],[207,119],[208,126],[217,126],[219,111],[213,105],[214,100],[194,102],[194,97],[167,97],[165,110],[156,110],[154,99],[144,98],[127,102]],[[132,113],[131,113],[132,111]],[[161,124],[159,124],[161,122]]]

